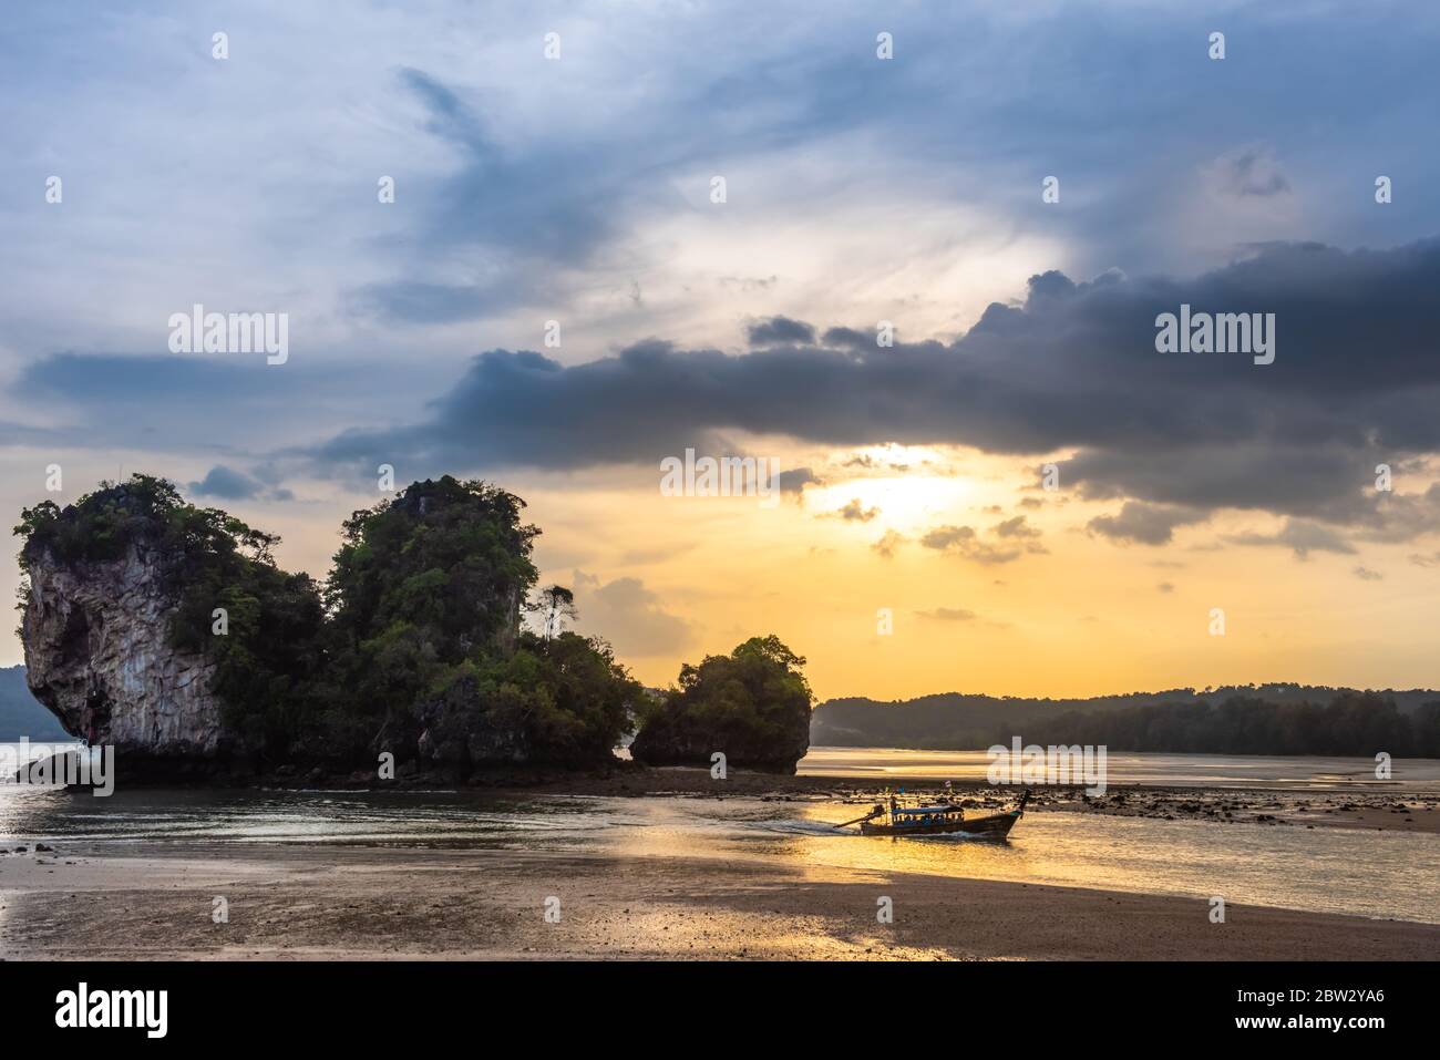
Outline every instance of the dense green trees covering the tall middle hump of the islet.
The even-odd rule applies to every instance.
[[[540,533],[523,508],[446,475],[346,521],[325,582],[331,749],[361,758],[408,745],[428,714],[454,720],[458,704],[468,737],[435,749],[436,762],[609,756],[639,686],[603,641],[521,629]]]

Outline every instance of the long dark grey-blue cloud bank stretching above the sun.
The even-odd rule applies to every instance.
[[[1162,506],[1122,510],[1097,533],[1164,542],[1176,517],[1218,507],[1380,527],[1390,501],[1375,500],[1375,464],[1440,449],[1437,287],[1437,241],[1349,253],[1272,245],[1189,281],[1047,272],[1022,305],[992,304],[950,344],[791,340],[730,356],[648,340],[570,367],[491,350],[428,422],[350,432],[320,455],[648,464],[734,429],[837,446],[1074,449],[1063,487]],[[1274,363],[1156,353],[1156,315],[1182,302],[1276,314]],[[812,333],[796,321],[782,331]]]

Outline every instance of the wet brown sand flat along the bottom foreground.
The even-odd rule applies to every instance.
[[[213,899],[229,903],[215,923]],[[893,923],[880,923],[888,897]],[[559,920],[546,900],[559,899]],[[995,880],[495,850],[7,855],[6,959],[1434,959],[1440,925]],[[552,903],[553,906],[553,903]]]

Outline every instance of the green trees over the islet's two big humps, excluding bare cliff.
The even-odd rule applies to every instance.
[[[539,534],[523,508],[480,481],[415,482],[344,523],[323,589],[275,566],[276,537],[148,475],[26,508],[16,533],[22,570],[157,569],[170,647],[216,664],[230,750],[261,765],[603,762],[642,690],[603,641],[521,628]]]

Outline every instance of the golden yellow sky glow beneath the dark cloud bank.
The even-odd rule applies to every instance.
[[[753,497],[664,497],[658,467],[501,482],[543,530],[541,579],[575,586],[580,629],[608,637],[648,684],[668,684],[681,661],[765,632],[809,660],[821,699],[1440,684],[1426,650],[1440,569],[1408,562],[1414,543],[1299,559],[1230,540],[1273,533],[1276,517],[1221,511],[1178,527],[1162,546],[1116,544],[1087,523],[1120,503],[1043,491],[1035,470],[1047,457],[799,449],[766,438],[737,441],[736,451],[776,455],[782,468],[808,467],[824,481],[772,507]],[[107,470],[76,454],[68,467],[79,470],[68,481],[91,488],[145,462],[121,454]],[[297,490],[300,503],[220,506],[282,534],[279,563],[320,578],[340,520],[374,498],[324,482]],[[865,518],[842,517],[851,501]],[[994,560],[1014,552],[999,547],[994,527],[1017,516],[1038,537],[1007,562],[922,544],[936,527],[972,527],[975,540],[995,546],[979,553]],[[888,557],[876,547],[887,536]],[[1358,576],[1361,567],[1369,576]],[[881,608],[893,615],[888,635],[877,632]],[[1224,608],[1224,637],[1208,632],[1211,608]],[[13,637],[0,661],[22,661]]]

